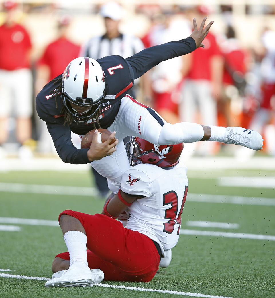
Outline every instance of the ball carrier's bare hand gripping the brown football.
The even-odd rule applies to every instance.
[[[114,143],[111,141],[114,139],[116,132],[112,132],[109,138],[103,142],[99,143],[97,140],[98,131],[95,130],[93,135],[93,141],[91,143],[90,149],[87,152],[87,156],[89,161],[99,160],[105,156],[112,155],[115,150],[117,150],[116,145],[118,144],[118,139],[115,140]]]

